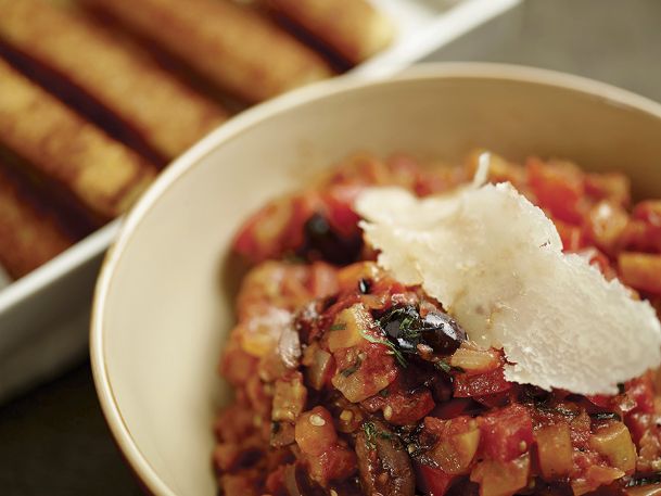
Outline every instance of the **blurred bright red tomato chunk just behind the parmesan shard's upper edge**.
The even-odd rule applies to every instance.
[[[569,164],[543,163],[538,158],[530,158],[526,168],[530,187],[539,206],[548,208],[560,220],[581,225],[585,191],[582,174]]]

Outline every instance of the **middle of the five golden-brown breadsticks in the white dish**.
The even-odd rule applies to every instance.
[[[227,114],[136,47],[43,0],[0,0],[0,53],[151,162],[165,164]]]

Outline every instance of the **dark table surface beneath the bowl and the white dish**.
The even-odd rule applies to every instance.
[[[661,101],[661,1],[527,0],[428,60],[570,72]],[[89,364],[0,408],[0,495],[138,495]]]

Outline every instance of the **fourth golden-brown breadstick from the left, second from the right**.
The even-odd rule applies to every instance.
[[[225,0],[85,0],[219,87],[262,101],[332,75],[326,61],[258,13]]]

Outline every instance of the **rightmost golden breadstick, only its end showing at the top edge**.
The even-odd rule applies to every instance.
[[[394,26],[366,0],[267,0],[353,64],[390,44]]]

